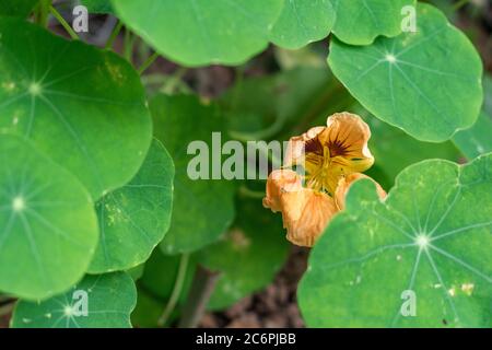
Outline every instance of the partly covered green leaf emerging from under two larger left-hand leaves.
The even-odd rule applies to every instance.
[[[144,262],[171,223],[174,165],[154,139],[133,179],[96,203],[101,240],[89,271],[126,270]]]

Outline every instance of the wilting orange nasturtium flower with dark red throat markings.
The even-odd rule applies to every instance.
[[[315,127],[289,141],[284,164],[267,180],[263,206],[282,212],[288,240],[313,246],[330,219],[344,208],[350,185],[374,163],[367,148],[368,126],[350,113],[337,113],[326,127]],[[306,175],[290,170],[303,166]],[[378,184],[377,191],[386,192]]]

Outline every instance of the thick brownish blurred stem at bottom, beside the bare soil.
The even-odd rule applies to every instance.
[[[203,316],[220,273],[198,266],[188,294],[179,328],[196,328]]]

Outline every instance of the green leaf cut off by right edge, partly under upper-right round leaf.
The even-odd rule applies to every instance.
[[[483,78],[482,113],[471,128],[458,131],[453,137],[453,142],[469,160],[492,151],[492,78]]]

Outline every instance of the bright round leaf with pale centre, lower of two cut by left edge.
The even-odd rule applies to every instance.
[[[0,133],[0,290],[51,296],[82,278],[97,245],[89,192],[20,137]]]

